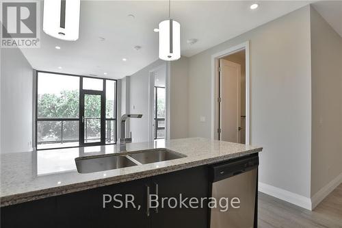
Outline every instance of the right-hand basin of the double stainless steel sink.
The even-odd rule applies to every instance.
[[[132,157],[134,160],[137,160],[137,162],[140,162],[141,164],[148,164],[153,162],[174,160],[186,156],[174,151],[170,151],[168,149],[152,149],[140,151],[137,153],[130,153],[129,157]]]

